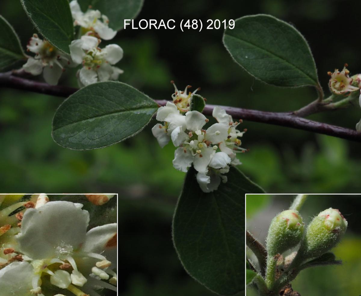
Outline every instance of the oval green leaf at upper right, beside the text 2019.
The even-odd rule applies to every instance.
[[[299,31],[273,16],[241,17],[227,28],[223,43],[255,78],[277,86],[318,85],[311,50]]]

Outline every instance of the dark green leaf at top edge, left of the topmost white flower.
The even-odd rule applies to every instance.
[[[74,28],[68,0],[21,0],[21,3],[39,33],[69,54]]]

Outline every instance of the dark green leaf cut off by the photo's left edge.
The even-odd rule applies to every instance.
[[[0,70],[24,58],[25,54],[18,35],[9,22],[0,15]]]

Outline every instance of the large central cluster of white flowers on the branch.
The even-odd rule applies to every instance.
[[[173,81],[172,81],[173,83]],[[174,84],[174,83],[173,83]],[[230,165],[240,164],[236,152],[244,152],[240,147],[244,132],[236,129],[239,122],[234,122],[225,110],[216,106],[213,117],[218,121],[206,130],[204,125],[209,122],[199,111],[190,111],[190,100],[193,93],[176,92],[172,95],[173,102],[167,102],[157,111],[157,123],[153,135],[163,148],[171,140],[175,147],[173,166],[177,170],[187,172],[193,165],[197,173],[197,182],[204,192],[217,190],[221,180],[227,182],[224,174],[229,172]],[[219,151],[218,151],[219,150]]]

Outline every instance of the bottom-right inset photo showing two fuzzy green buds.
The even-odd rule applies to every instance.
[[[360,295],[360,195],[246,195],[247,296]]]

